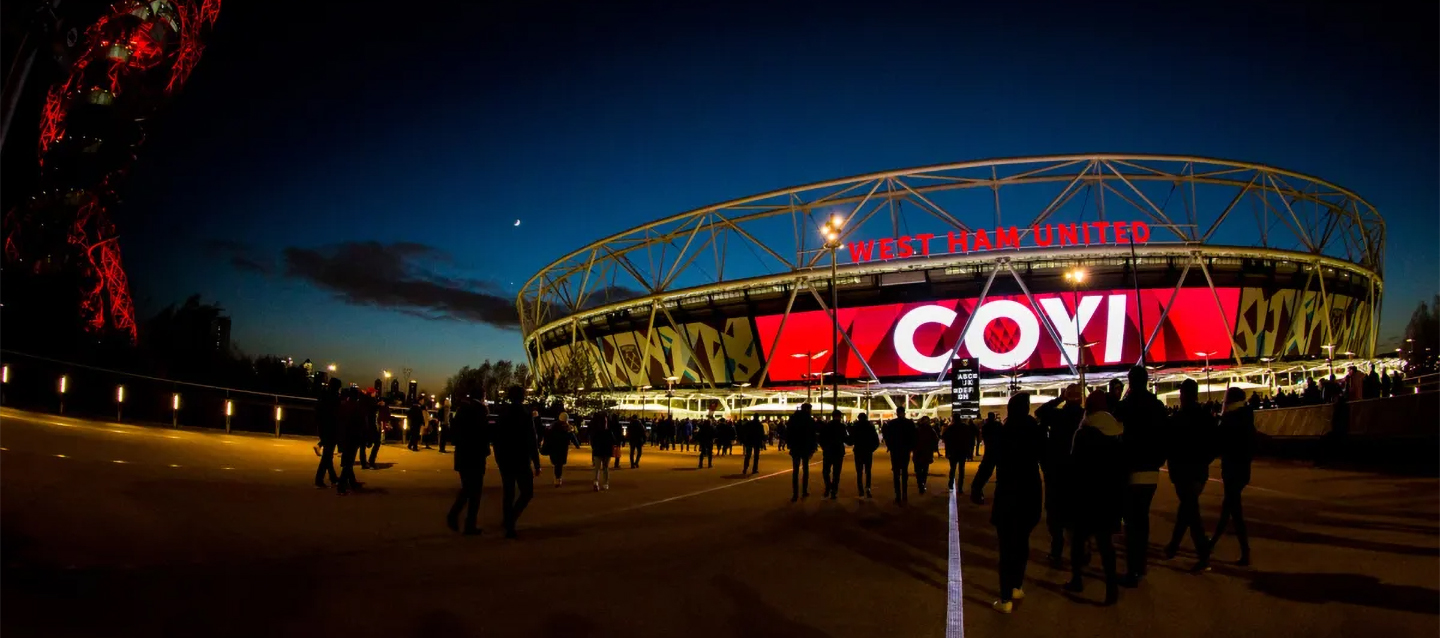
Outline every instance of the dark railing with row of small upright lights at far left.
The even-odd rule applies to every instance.
[[[315,399],[207,386],[0,350],[0,403],[226,432],[315,433]]]

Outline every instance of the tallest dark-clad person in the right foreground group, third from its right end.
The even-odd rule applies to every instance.
[[[1130,387],[1120,400],[1119,418],[1125,428],[1122,448],[1129,469],[1125,493],[1125,579],[1120,585],[1136,588],[1145,578],[1151,549],[1151,503],[1165,464],[1165,403],[1149,390],[1149,372],[1135,366]],[[1113,387],[1113,383],[1112,383]]]

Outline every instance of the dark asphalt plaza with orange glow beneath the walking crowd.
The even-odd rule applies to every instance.
[[[789,457],[775,448],[753,477],[740,475],[739,446],[706,469],[694,454],[647,448],[603,493],[590,488],[589,449],[576,449],[564,487],[546,464],[507,540],[494,468],[485,533],[462,537],[444,524],[451,457],[386,445],[380,469],[357,471],[366,490],[337,497],[311,485],[311,445],[0,409],[0,634],[945,635],[945,477],[901,508],[883,451],[876,498],[857,498],[847,458],[841,498],[821,500],[816,457],[811,497],[792,504]],[[1201,501],[1210,530],[1220,497],[1211,484]],[[965,632],[1440,635],[1437,497],[1433,477],[1259,461],[1246,491],[1254,565],[1234,566],[1227,537],[1215,569],[1191,575],[1188,540],[1161,557],[1176,506],[1162,477],[1139,589],[1112,608],[1099,579],[1080,596],[1061,590],[1068,573],[1047,565],[1041,524],[1012,615],[989,608],[989,510],[962,500]]]

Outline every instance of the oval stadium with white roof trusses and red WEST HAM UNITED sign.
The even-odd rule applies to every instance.
[[[948,416],[1152,370],[1272,392],[1374,360],[1385,223],[1358,194],[1204,157],[1015,157],[871,173],[664,217],[516,298],[531,369],[618,410],[899,405]],[[973,361],[973,363],[971,363]]]

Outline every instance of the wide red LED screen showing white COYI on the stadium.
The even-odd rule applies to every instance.
[[[1182,288],[1178,294],[1174,288],[1152,288],[1140,289],[1139,298],[1135,289],[1047,292],[1034,298],[1038,308],[1025,295],[989,295],[978,310],[979,298],[840,308],[840,324],[880,377],[940,374],[966,320],[971,327],[959,356],[975,357],[982,370],[991,372],[1067,369],[1067,356],[1080,361],[1076,344],[1093,344],[1084,356],[1092,366],[1133,364],[1142,340],[1152,333],[1148,363],[1202,359],[1195,353],[1224,359],[1231,353],[1227,325],[1234,324],[1240,288],[1218,288],[1214,294],[1210,288]],[[1155,333],[1166,305],[1169,313]],[[760,343],[776,343],[769,379],[795,382],[808,372],[828,372],[834,356],[829,313],[792,313],[775,341],[780,320],[778,314],[755,320]],[[844,340],[838,350],[844,377],[868,376]]]

